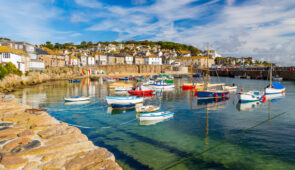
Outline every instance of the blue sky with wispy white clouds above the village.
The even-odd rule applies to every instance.
[[[294,0],[0,0],[0,37],[174,41],[295,65]]]

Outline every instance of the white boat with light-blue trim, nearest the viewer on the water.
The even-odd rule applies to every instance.
[[[140,121],[147,121],[147,120],[164,120],[164,119],[169,119],[173,116],[174,116],[173,112],[159,111],[159,112],[141,113],[138,115],[138,118]]]

